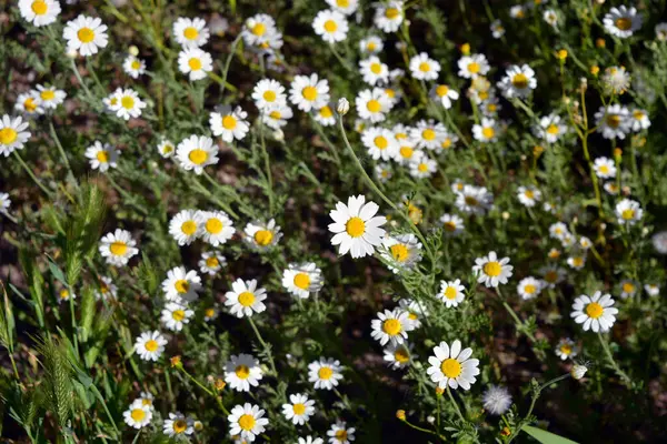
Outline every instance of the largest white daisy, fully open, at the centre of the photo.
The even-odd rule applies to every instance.
[[[379,206],[375,202],[366,202],[366,196],[350,196],[347,205],[342,202],[336,204],[329,216],[334,223],[329,231],[336,233],[331,238],[332,245],[339,245],[338,254],[350,252],[354,259],[371,255],[375,248],[379,246],[385,235],[381,229],[387,219],[376,216]]]

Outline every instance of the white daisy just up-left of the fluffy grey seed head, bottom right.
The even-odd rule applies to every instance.
[[[456,340],[451,343],[451,347],[445,342],[434,347],[435,356],[428,359],[431,365],[426,373],[430,380],[438,384],[440,389],[458,389],[470,390],[479,374],[479,360],[470,359],[472,349],[464,349],[461,351],[461,342]]]

